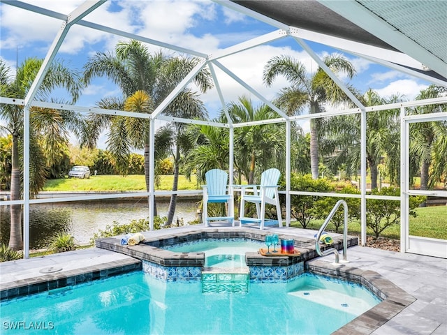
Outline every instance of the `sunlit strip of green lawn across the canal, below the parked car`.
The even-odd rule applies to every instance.
[[[161,176],[160,187],[156,190],[171,190],[173,188],[174,176]],[[184,176],[179,176],[179,190],[197,190],[196,178],[191,181]],[[43,191],[145,191],[145,176],[130,175],[122,176],[91,176],[89,179],[64,178],[47,180]]]

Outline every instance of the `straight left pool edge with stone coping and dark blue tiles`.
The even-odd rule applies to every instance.
[[[10,283],[0,284],[0,300],[33,295],[66,286],[95,281],[101,278],[126,274],[141,270],[141,261],[133,258],[115,260],[89,267],[81,267],[67,271],[58,271],[52,274],[43,274],[34,278],[27,278]]]

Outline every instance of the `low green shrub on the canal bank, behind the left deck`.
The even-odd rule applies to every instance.
[[[166,221],[167,218],[154,216],[154,230],[161,229],[163,227],[163,223]],[[98,232],[95,232],[93,237],[90,239],[90,242],[91,244],[94,244],[95,239],[135,232],[147,232],[149,230],[149,220],[145,218],[140,218],[139,220],[131,220],[131,222],[128,224],[119,224],[117,221],[113,221],[112,225],[105,226],[105,230],[98,230]]]

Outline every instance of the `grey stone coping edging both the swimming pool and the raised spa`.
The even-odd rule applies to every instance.
[[[259,239],[263,240],[265,234],[268,232],[258,231],[253,232],[237,229],[228,232],[221,232],[219,230],[213,231],[193,231],[184,234],[169,234],[164,237],[154,237],[145,240],[145,243],[150,243],[151,241],[172,241],[175,237],[181,237],[181,239],[191,239],[191,235],[198,237],[198,235],[208,236],[207,238],[240,238],[241,234],[245,234],[247,239]],[[230,236],[228,236],[230,235]],[[210,237],[212,236],[212,237]],[[203,238],[203,237],[202,237]],[[206,238],[206,237],[205,237]],[[319,274],[323,276],[328,276],[332,278],[342,278],[344,280],[352,281],[354,283],[359,283],[365,288],[374,293],[377,297],[383,299],[379,304],[369,309],[365,313],[359,315],[357,318],[347,323],[343,327],[337,329],[332,334],[371,334],[375,329],[381,327],[381,325],[388,322],[395,315],[400,313],[404,308],[416,301],[416,298],[406,293],[404,290],[399,288],[397,285],[388,281],[388,279],[381,276],[375,271],[363,270],[356,267],[350,267],[349,264],[334,264],[330,262],[325,262],[317,258],[318,255],[314,250],[314,239],[307,239],[303,237],[293,237],[287,234],[279,234],[279,238],[292,238],[295,240],[295,247],[301,251],[301,256],[293,257],[275,257],[269,258],[262,255],[257,255],[256,253],[246,253],[247,260],[253,259],[254,262],[262,263],[264,266],[285,266],[284,260],[281,262],[279,259],[298,259],[300,261],[305,261],[305,270],[311,274]],[[120,240],[110,238],[110,239],[98,239],[96,245],[109,245],[109,246],[120,246],[122,251],[134,251],[137,255],[147,255],[142,253],[140,248],[147,247],[147,250],[154,251],[154,249],[159,249],[154,246],[147,244],[138,246],[121,246],[119,244]],[[164,242],[163,242],[164,243]],[[353,246],[358,244],[357,237],[349,237],[348,246]],[[342,248],[342,237],[334,238],[335,247],[340,250]],[[101,246],[98,246],[101,248]],[[323,250],[326,247],[323,247]],[[110,250],[110,249],[109,249]],[[161,250],[161,249],[159,249]],[[163,251],[167,253],[173,253],[171,251]],[[128,254],[128,253],[126,253]],[[174,256],[168,254],[169,256]],[[191,257],[193,260],[201,259],[201,253],[196,253],[196,257]],[[184,257],[189,256],[188,254]],[[198,257],[200,255],[200,257]],[[135,256],[133,256],[135,257]],[[160,258],[160,255],[158,255]],[[176,262],[182,258],[173,258]],[[266,262],[261,262],[260,260],[266,260]],[[170,264],[170,266],[173,266]],[[191,265],[187,265],[191,266]],[[123,260],[116,260],[112,262],[105,262],[101,265],[94,265],[90,267],[82,267],[80,269],[73,269],[69,271],[59,271],[52,274],[44,274],[43,276],[38,276],[32,279],[14,281],[6,284],[0,284],[0,300],[7,300],[14,297],[20,297],[25,295],[32,295],[38,292],[50,291],[57,288],[64,288],[70,285],[77,285],[80,283],[86,283],[87,281],[94,281],[100,278],[107,278],[110,276],[115,276],[117,274],[124,274],[131,271],[138,271],[142,269],[142,259],[140,258],[126,258]]]

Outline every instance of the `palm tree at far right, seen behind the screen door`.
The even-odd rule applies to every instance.
[[[416,100],[437,98],[446,89],[431,85],[420,91]],[[425,105],[415,107],[411,114],[445,112],[446,105]],[[447,176],[447,122],[429,121],[411,124],[410,157],[412,165],[420,172],[420,189],[433,188],[438,181]]]

